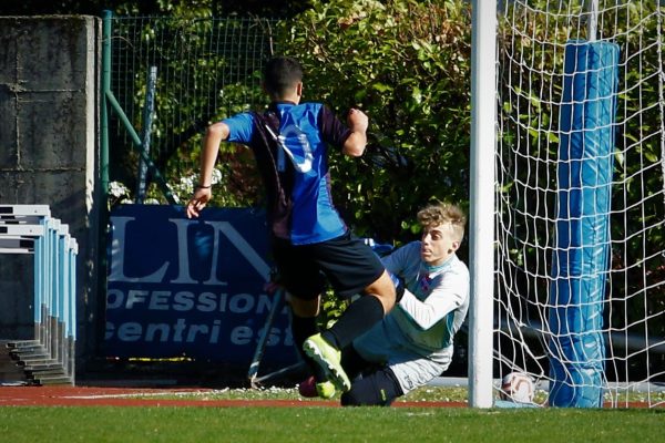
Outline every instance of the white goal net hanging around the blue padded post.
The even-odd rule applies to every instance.
[[[499,7],[493,374],[536,404],[665,404],[664,28],[661,0]]]

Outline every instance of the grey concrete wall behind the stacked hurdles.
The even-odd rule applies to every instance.
[[[100,21],[0,17],[0,204],[47,204],[79,244],[78,368],[98,341]],[[32,338],[32,257],[0,255],[0,340]]]

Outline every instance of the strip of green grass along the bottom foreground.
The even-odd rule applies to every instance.
[[[3,406],[3,442],[663,442],[665,410]]]

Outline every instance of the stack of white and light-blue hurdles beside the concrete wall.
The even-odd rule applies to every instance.
[[[34,338],[10,356],[31,384],[74,384],[76,240],[48,205],[0,205],[0,254],[34,256]]]

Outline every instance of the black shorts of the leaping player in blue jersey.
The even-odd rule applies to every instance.
[[[311,245],[274,239],[273,254],[286,290],[305,300],[324,292],[326,278],[338,296],[352,297],[381,277],[385,269],[371,247],[350,231]]]

